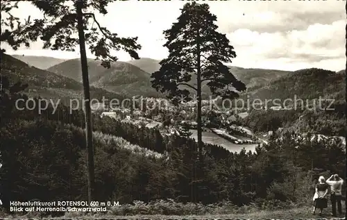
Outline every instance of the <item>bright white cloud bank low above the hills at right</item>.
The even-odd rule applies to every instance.
[[[282,59],[281,62],[291,64],[316,63],[345,57],[345,26],[346,21],[340,20],[330,25],[312,24],[303,31],[259,33],[238,29],[227,36],[237,53],[235,62],[242,66],[249,60]],[[343,69],[344,65],[341,62],[336,68]]]

